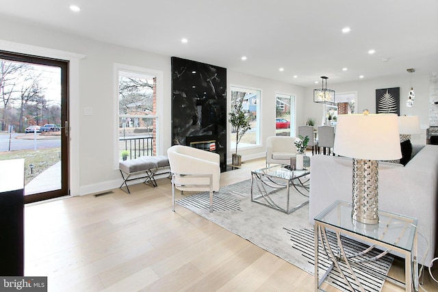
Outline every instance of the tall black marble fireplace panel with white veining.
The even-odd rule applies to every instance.
[[[172,145],[175,144],[218,153],[221,169],[225,170],[226,68],[172,57]]]

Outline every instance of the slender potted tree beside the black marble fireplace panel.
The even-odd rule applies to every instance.
[[[229,113],[229,122],[235,131],[235,153],[233,153],[233,165],[241,165],[242,164],[242,156],[237,155],[237,145],[242,139],[243,135],[251,129],[249,120],[250,117],[246,114],[242,106],[242,99],[240,101],[236,101],[231,108]]]

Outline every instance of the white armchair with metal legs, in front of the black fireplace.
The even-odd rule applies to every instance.
[[[209,191],[210,212],[213,192],[220,187],[220,156],[214,152],[175,145],[167,150],[172,175],[172,211],[175,212],[175,188],[182,191]]]

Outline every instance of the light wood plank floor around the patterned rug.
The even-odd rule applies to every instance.
[[[264,165],[243,163],[221,185]],[[313,276],[294,265],[179,205],[172,213],[170,180],[157,183],[27,205],[25,276],[48,276],[49,291],[62,292],[314,290]],[[403,278],[403,264],[391,273]],[[383,291],[403,290],[387,283]]]

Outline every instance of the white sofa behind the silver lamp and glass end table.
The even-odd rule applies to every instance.
[[[378,163],[378,207],[418,220],[418,262],[430,266],[437,232],[438,146],[413,146],[407,165]],[[314,155],[309,222],[335,200],[352,201],[352,159]]]

